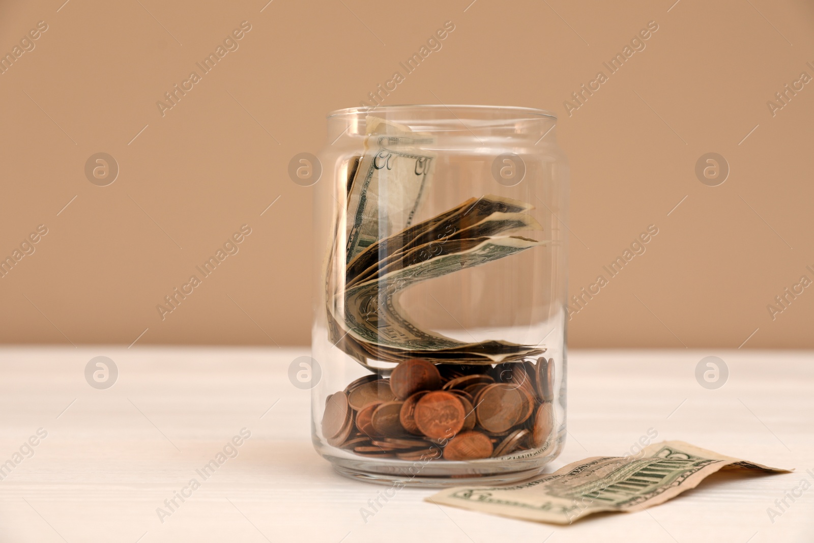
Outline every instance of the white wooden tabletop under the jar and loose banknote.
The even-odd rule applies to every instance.
[[[0,541],[814,541],[814,354],[575,352],[569,439],[551,468],[624,454],[648,429],[720,453],[796,467],[788,475],[719,474],[663,506],[568,527],[441,508],[406,488],[373,518],[383,487],[345,479],[310,441],[309,391],[287,378],[304,349],[0,349]],[[722,358],[707,390],[694,369]],[[112,388],[85,381],[92,357],[116,362]],[[272,407],[273,406],[273,407]],[[270,409],[269,409],[270,408]],[[47,431],[38,439],[37,430]],[[197,475],[242,428],[208,479]],[[41,431],[42,434],[42,431]],[[31,436],[37,445],[25,445]],[[20,449],[22,453],[20,453]],[[232,449],[227,449],[231,453]],[[15,457],[15,453],[20,456]],[[194,490],[190,479],[203,481]],[[807,478],[781,516],[767,508]],[[174,493],[177,507],[160,519]],[[163,520],[163,522],[162,522]]]

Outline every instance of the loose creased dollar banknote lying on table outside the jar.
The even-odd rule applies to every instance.
[[[425,498],[515,519],[570,524],[600,511],[632,513],[696,487],[721,469],[788,472],[683,441],[651,444],[636,457],[593,457],[509,487],[447,488]]]

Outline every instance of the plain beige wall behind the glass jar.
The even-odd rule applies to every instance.
[[[0,75],[0,256],[47,228],[0,278],[2,342],[307,343],[313,188],[288,161],[449,20],[386,103],[558,114],[572,292],[659,228],[573,316],[571,346],[814,347],[814,287],[767,309],[814,280],[814,84],[767,105],[814,77],[810,2],[63,1],[0,4],[3,55],[47,24]],[[242,21],[238,49],[162,116]],[[649,21],[646,48],[569,116]],[[85,177],[97,152],[120,169],[108,186]],[[729,163],[720,186],[696,177],[707,152]],[[244,224],[239,252],[162,320],[156,304]]]

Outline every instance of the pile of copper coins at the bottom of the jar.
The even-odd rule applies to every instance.
[[[554,427],[554,359],[497,366],[401,362],[326,399],[322,435],[363,456],[449,461],[538,449]]]

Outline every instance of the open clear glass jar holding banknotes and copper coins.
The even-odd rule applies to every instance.
[[[384,484],[523,480],[566,434],[568,167],[524,107],[328,116],[313,443]]]

